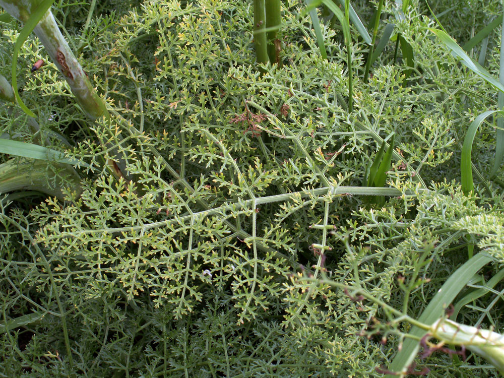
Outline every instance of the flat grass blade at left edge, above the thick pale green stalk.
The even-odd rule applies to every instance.
[[[46,161],[57,161],[58,163],[79,165],[89,167],[89,164],[79,162],[76,159],[67,158],[62,152],[52,150],[36,144],[12,141],[10,139],[0,139],[0,153],[39,159]]]

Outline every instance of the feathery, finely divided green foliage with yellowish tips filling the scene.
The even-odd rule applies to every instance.
[[[89,122],[35,37],[20,48],[17,81],[39,109],[39,135],[19,109],[0,108],[11,139],[57,151],[56,134],[71,141],[83,177],[66,201],[0,199],[1,374],[381,377],[399,366],[497,376],[478,351],[398,354],[421,345],[416,326],[442,336],[431,327],[451,324],[440,321],[450,301],[460,329],[502,333],[503,323],[493,131],[472,144],[474,190],[459,182],[461,141],[497,110],[496,91],[454,64],[428,10],[384,3],[375,35],[393,21],[411,54],[396,61],[384,44],[365,82],[373,55],[349,2],[335,6],[339,24],[317,10],[327,57],[305,4],[282,2],[283,65],[264,73],[251,2],[93,4],[59,0],[53,11],[110,116]],[[376,9],[366,4],[352,2],[364,24]],[[18,26],[0,23],[0,74]],[[47,64],[28,74],[39,58]],[[135,182],[103,166],[113,149]],[[362,187],[377,161],[380,185]]]

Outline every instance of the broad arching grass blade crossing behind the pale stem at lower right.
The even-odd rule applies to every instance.
[[[491,261],[492,258],[490,256],[479,253],[457,269],[431,299],[420,318],[418,318],[418,322],[431,325],[441,318],[445,307],[455,299],[473,275]],[[405,372],[408,366],[413,362],[420,348],[419,339],[426,332],[421,328],[412,327],[410,335],[418,338],[418,340],[408,338],[404,341],[401,350],[397,353],[389,367],[391,371],[399,372],[401,377],[406,375]],[[395,378],[397,375],[387,374],[386,377]]]

